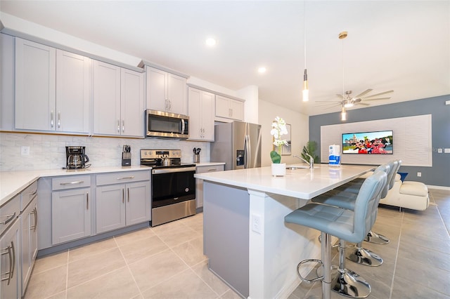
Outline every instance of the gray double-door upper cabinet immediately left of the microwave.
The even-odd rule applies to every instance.
[[[143,138],[143,73],[94,60],[94,134]]]

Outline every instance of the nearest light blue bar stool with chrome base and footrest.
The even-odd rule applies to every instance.
[[[330,236],[338,237],[353,243],[358,243],[366,237],[375,223],[381,190],[385,187],[387,175],[383,171],[373,173],[364,180],[355,199],[354,210],[328,206],[324,204],[307,204],[285,216],[285,222],[311,227],[321,232],[321,260],[302,260],[297,270],[305,263],[319,262],[323,267],[323,276],[316,279],[304,279],[297,271],[302,281],[322,281],[322,296],[331,297],[331,244]],[[339,270],[333,281],[338,281],[345,275],[345,270]],[[371,293],[371,286],[364,279],[349,280],[346,284],[334,284],[333,291],[353,298],[366,298]]]

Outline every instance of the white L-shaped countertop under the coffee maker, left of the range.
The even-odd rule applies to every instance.
[[[82,175],[93,173],[113,173],[118,171],[148,171],[148,166],[115,166],[115,167],[94,167],[84,168],[81,170],[67,169],[47,169],[37,171],[0,171],[0,206],[9,199],[15,197],[28,187],[32,182],[43,177],[60,176],[60,175]]]

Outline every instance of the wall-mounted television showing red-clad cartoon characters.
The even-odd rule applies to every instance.
[[[392,131],[342,134],[342,154],[392,154]]]

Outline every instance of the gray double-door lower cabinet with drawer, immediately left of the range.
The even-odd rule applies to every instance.
[[[96,175],[96,233],[150,221],[150,171]]]

